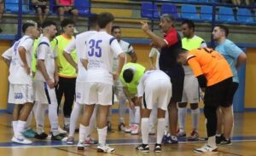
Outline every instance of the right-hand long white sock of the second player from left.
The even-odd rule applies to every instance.
[[[54,136],[60,133],[58,130],[59,123],[58,123],[57,109],[58,109],[57,103],[49,104],[49,124],[50,124],[50,130]]]

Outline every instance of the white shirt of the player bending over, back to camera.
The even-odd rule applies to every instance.
[[[160,80],[160,79],[170,81],[170,77],[168,75],[166,75],[165,72],[162,72],[160,70],[151,70],[151,71],[145,72],[143,74],[143,77],[140,79],[139,84],[137,85],[138,97],[143,96],[144,91],[145,91],[145,84],[147,81],[154,81],[154,80]],[[157,85],[157,84],[155,84],[155,85]]]

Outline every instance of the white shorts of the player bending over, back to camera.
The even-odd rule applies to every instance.
[[[145,84],[145,93],[143,95],[143,109],[158,107],[166,111],[171,96],[172,84],[170,80],[148,81]]]

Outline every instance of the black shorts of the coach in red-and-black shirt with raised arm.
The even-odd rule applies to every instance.
[[[171,103],[182,101],[183,98],[183,84],[184,84],[184,70],[182,66],[176,66],[173,70],[163,71],[171,78],[172,83],[172,98]]]

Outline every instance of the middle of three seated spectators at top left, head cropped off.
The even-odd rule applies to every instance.
[[[32,8],[37,11],[42,24],[49,14],[49,0],[32,0]]]

